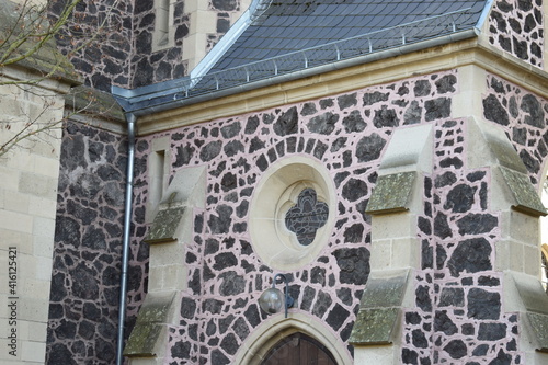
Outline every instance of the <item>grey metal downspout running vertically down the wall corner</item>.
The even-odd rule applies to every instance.
[[[129,258],[129,241],[132,226],[132,205],[133,205],[133,185],[134,185],[134,163],[135,163],[135,122],[136,116],[132,113],[126,114],[127,121],[127,180],[126,180],[126,201],[124,212],[124,241],[122,246],[122,275],[119,278],[119,313],[118,313],[118,335],[116,342],[116,365],[124,363],[124,320],[126,317],[126,296],[127,296],[127,263]]]

